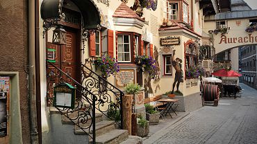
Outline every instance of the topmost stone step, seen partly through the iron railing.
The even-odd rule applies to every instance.
[[[78,114],[81,116],[81,118],[78,118]],[[67,115],[67,114],[65,114],[65,115]],[[101,113],[95,114],[96,123],[103,120],[102,116],[103,116],[103,114],[101,114]],[[91,124],[91,117],[87,116],[87,115],[84,116],[84,113],[81,111],[74,111],[74,113],[69,113],[69,118],[71,118],[74,123],[80,123],[79,125],[81,125],[81,127],[88,127],[88,125]],[[74,125],[74,123],[71,120],[69,120],[69,118],[62,115],[62,123]],[[85,123],[85,122],[87,122],[87,123]]]

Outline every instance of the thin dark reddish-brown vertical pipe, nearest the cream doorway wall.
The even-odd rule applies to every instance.
[[[42,143],[41,88],[40,88],[40,39],[39,39],[39,1],[35,0],[35,91],[38,118],[38,142]]]

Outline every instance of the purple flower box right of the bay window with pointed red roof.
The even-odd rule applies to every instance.
[[[148,71],[149,77],[154,79],[157,75],[157,70],[155,66],[156,60],[153,57],[147,55],[137,55],[135,57],[135,64],[142,66],[142,71]]]

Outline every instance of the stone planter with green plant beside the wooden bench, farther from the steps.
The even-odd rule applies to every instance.
[[[145,111],[147,112],[147,120],[149,125],[157,125],[159,123],[160,114],[152,105],[144,104]]]

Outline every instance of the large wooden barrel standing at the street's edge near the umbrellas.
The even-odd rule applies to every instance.
[[[219,99],[219,89],[217,85],[205,84],[203,87],[204,101],[214,101]]]

